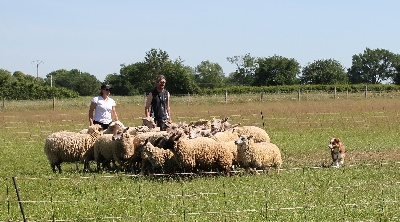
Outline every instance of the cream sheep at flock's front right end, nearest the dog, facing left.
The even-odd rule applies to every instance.
[[[235,141],[237,145],[237,161],[246,171],[251,168],[266,170],[275,167],[278,172],[282,165],[279,148],[273,143],[256,143],[253,136],[241,135]]]

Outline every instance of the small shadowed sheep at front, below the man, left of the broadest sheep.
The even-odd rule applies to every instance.
[[[146,163],[151,164],[151,173],[173,173],[179,168],[175,154],[169,149],[163,149],[153,146],[146,140],[142,151],[141,172],[147,174]]]

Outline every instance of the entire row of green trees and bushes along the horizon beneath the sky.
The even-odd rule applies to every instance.
[[[154,79],[167,77],[171,94],[210,94],[222,89],[266,87],[357,85],[382,83],[400,85],[400,55],[386,49],[366,48],[352,56],[346,69],[335,59],[316,60],[301,67],[294,58],[279,55],[252,57],[250,54],[228,57],[236,70],[226,75],[218,63],[202,61],[186,66],[181,58],[172,60],[161,49],[146,52],[144,60],[121,64],[120,72],[108,74],[106,83],[114,95],[142,95],[154,87]],[[20,71],[0,69],[0,96],[7,99],[47,99],[92,96],[99,92],[96,76],[77,69],[59,69],[37,78]]]

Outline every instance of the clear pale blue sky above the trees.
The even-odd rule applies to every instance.
[[[104,81],[151,49],[196,67],[227,57],[335,59],[400,53],[398,0],[0,0],[0,69],[44,78],[78,69]]]

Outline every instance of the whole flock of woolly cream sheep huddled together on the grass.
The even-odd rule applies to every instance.
[[[264,129],[232,125],[226,119],[200,119],[168,123],[160,131],[153,119],[125,127],[116,121],[107,130],[100,125],[81,132],[55,132],[45,141],[44,152],[53,172],[61,163],[83,163],[85,171],[116,170],[142,174],[221,172],[240,167],[246,171],[279,170],[282,157]],[[96,163],[92,169],[91,162]]]

